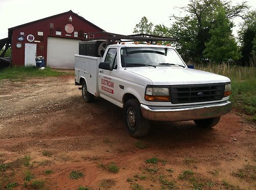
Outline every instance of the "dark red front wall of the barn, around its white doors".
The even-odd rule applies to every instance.
[[[72,22],[69,21],[69,17],[72,16]],[[50,29],[50,23],[53,23],[53,29]],[[65,31],[65,25],[68,23],[74,26],[74,32],[78,32],[78,37],[74,37],[74,32],[71,36]],[[100,32],[101,30],[94,26],[90,22],[81,19],[79,16],[72,12],[67,12],[56,17],[49,17],[39,21],[35,21],[28,24],[23,24],[12,29],[12,64],[13,65],[24,65],[25,64],[25,43],[36,43],[36,56],[44,56],[47,65],[47,39],[48,36],[60,37],[60,38],[73,38],[83,39],[83,33]],[[61,36],[56,35],[56,31],[61,32]],[[25,40],[18,41],[17,38],[20,33],[24,33]],[[38,36],[38,32],[43,32],[43,36]],[[35,37],[35,41],[40,42],[29,42],[27,36],[32,34]],[[16,43],[22,43],[22,48],[17,48]]]

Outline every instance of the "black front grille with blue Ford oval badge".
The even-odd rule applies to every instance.
[[[225,84],[170,86],[172,103],[193,103],[221,100]]]

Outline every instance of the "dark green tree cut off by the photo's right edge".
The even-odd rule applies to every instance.
[[[250,11],[244,17],[239,31],[239,41],[242,54],[241,64],[256,66],[256,10]]]

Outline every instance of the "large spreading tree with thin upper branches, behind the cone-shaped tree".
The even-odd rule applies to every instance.
[[[231,2],[221,0],[190,0],[181,12],[185,16],[171,16],[174,19],[171,31],[173,37],[179,38],[177,49],[185,61],[202,62],[205,60],[203,51],[205,43],[209,41],[209,33],[214,23],[214,13],[220,6],[224,7],[226,18],[232,19],[242,16],[248,8],[246,3],[231,6]]]

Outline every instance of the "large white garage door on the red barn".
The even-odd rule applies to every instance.
[[[48,37],[47,66],[59,69],[75,69],[74,55],[78,54],[81,40]]]

